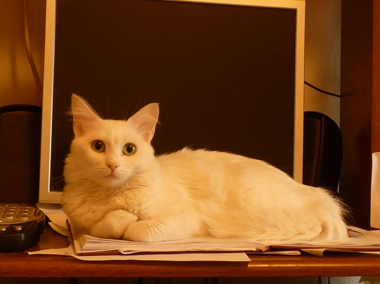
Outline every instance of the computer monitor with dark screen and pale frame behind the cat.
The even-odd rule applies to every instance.
[[[304,0],[47,0],[40,202],[59,202],[71,93],[105,118],[160,104],[157,154],[262,159],[302,181]]]

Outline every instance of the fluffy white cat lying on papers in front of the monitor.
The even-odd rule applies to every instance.
[[[75,138],[61,204],[84,232],[145,242],[347,237],[339,202],[327,191],[261,160],[190,149],[156,157],[150,142],[158,104],[122,121],[100,118],[77,95],[71,103]],[[94,140],[104,141],[104,152],[92,149]],[[134,155],[123,154],[126,143],[136,145]]]

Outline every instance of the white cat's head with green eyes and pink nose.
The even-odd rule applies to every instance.
[[[84,98],[73,94],[71,111],[75,137],[66,158],[66,180],[118,187],[151,165],[158,104],[143,107],[128,120],[102,119]]]

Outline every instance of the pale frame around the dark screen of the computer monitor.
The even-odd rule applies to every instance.
[[[166,0],[157,0],[166,1]],[[296,25],[296,74],[295,74],[295,127],[294,127],[294,179],[302,182],[303,163],[303,104],[304,104],[304,27],[305,0],[176,0],[210,4],[242,5],[269,8],[295,9]],[[59,203],[61,192],[50,191],[51,118],[54,75],[54,51],[56,30],[56,0],[46,1],[44,86],[41,134],[41,166],[39,202]]]

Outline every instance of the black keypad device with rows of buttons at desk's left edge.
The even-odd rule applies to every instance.
[[[25,250],[40,241],[45,214],[36,205],[0,204],[0,252]]]

